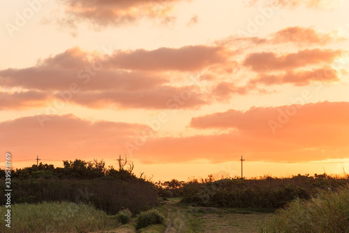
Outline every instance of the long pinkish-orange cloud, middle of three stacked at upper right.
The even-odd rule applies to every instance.
[[[244,66],[253,71],[274,71],[283,69],[296,69],[302,66],[332,63],[344,54],[343,50],[301,50],[277,56],[275,52],[257,52],[249,54],[244,60]]]

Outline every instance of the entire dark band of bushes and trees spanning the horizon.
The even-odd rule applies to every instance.
[[[119,161],[120,162],[120,161]],[[311,199],[320,190],[336,191],[348,185],[349,176],[290,176],[276,178],[223,178],[213,176],[184,182],[173,179],[151,183],[133,174],[133,164],[119,163],[119,169],[105,167],[103,160],[64,161],[64,167],[52,164],[32,165],[11,172],[12,204],[40,202],[75,202],[92,204],[107,214],[123,209],[133,214],[147,211],[159,204],[158,197],[183,197],[191,206],[231,207],[274,211],[292,200]],[[0,178],[5,171],[0,169]],[[347,186],[348,187],[348,186]],[[4,189],[1,203],[6,203]],[[165,204],[163,202],[163,204]]]

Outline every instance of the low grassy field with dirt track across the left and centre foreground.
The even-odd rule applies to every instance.
[[[135,228],[135,218],[125,225],[117,216],[107,216],[86,204],[44,202],[43,204],[15,204],[11,206],[11,228],[0,226],[0,232],[105,232],[105,233],[179,233],[179,232],[258,232],[270,213],[239,209],[192,207],[172,198],[156,209],[166,217],[163,225]],[[1,206],[1,216],[6,209]]]

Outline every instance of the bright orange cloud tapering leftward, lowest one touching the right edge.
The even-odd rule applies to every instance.
[[[198,129],[206,128],[235,128],[250,132],[272,132],[269,127],[269,120],[278,121],[279,113],[288,113],[290,122],[280,131],[292,130],[302,127],[311,127],[312,125],[348,125],[346,120],[349,117],[349,102],[318,102],[315,104],[304,104],[299,101],[302,97],[295,99],[294,104],[298,106],[279,106],[279,107],[252,107],[248,111],[229,110],[224,113],[214,113],[211,115],[200,116],[191,120],[191,127]],[[303,98],[304,99],[304,98]],[[296,101],[297,100],[297,101]],[[304,104],[304,105],[303,105]],[[291,122],[292,120],[292,122]],[[287,128],[287,129],[286,129]]]

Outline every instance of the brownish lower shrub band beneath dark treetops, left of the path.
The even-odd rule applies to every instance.
[[[121,209],[138,213],[149,206],[156,206],[156,189],[152,183],[142,180],[124,182],[108,180],[13,180],[11,202],[75,202],[93,204],[107,214],[116,214]],[[0,201],[6,203],[4,190]]]

